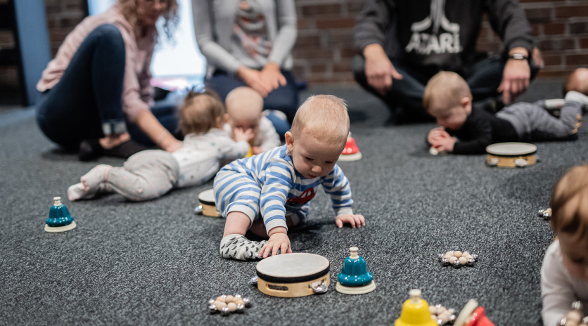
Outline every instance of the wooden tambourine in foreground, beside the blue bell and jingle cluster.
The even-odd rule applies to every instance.
[[[317,254],[279,254],[257,263],[257,289],[264,294],[293,298],[326,292],[328,259]]]

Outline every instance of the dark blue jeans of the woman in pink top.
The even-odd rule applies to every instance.
[[[84,139],[106,136],[103,124],[126,122],[122,112],[125,61],[124,41],[117,27],[100,25],[88,34],[60,81],[43,94],[38,105],[37,122],[45,136],[65,148],[77,149]],[[164,110],[164,126],[176,131],[177,119],[170,111],[174,110]],[[127,122],[127,129],[134,140],[153,145],[138,127]]]

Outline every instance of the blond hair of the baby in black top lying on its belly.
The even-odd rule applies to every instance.
[[[441,71],[429,79],[423,105],[428,112],[433,102],[442,101],[449,108],[459,105],[462,98],[472,98],[468,83],[455,72]]]

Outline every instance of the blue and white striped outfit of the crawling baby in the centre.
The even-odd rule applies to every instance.
[[[323,185],[325,193],[331,196],[337,216],[352,214],[353,200],[349,181],[337,164],[328,175],[307,179],[295,170],[292,157],[286,151],[286,145],[282,145],[260,155],[237,159],[223,167],[215,178],[215,197],[219,211],[225,214],[226,209],[233,204],[236,192],[250,191],[247,185],[250,183],[261,188],[258,199],[248,199],[259,202],[268,232],[276,226],[286,227],[286,211],[302,210],[307,213],[308,202],[314,197],[315,189],[319,185]],[[236,176],[230,171],[250,178]],[[255,211],[255,208],[249,208]],[[259,213],[255,211],[255,214]]]

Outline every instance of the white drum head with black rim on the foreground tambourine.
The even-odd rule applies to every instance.
[[[268,257],[256,268],[257,277],[267,282],[297,283],[326,275],[329,266],[331,263],[324,256],[296,252]]]

